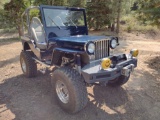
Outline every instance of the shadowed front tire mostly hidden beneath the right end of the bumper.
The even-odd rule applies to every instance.
[[[118,86],[122,86],[123,84],[125,84],[128,80],[129,80],[129,77],[126,77],[126,76],[119,76],[118,78],[115,78],[113,80],[110,80],[108,81],[108,86],[111,86],[111,87],[118,87]]]

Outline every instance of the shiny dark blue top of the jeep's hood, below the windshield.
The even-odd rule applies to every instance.
[[[77,35],[77,36],[69,36],[69,37],[53,37],[49,39],[54,42],[74,42],[74,43],[86,43],[89,41],[96,41],[101,39],[111,39],[109,36],[89,36],[89,35]]]

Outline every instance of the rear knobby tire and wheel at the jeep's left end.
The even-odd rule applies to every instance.
[[[20,54],[20,64],[24,75],[28,78],[36,77],[37,64],[32,59],[33,54],[30,51],[22,51]]]

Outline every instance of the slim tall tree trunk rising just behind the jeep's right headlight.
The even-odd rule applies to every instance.
[[[119,27],[120,27],[120,14],[121,14],[121,3],[122,0],[118,0],[118,15],[117,15],[117,29],[116,29],[116,33],[119,33]]]

